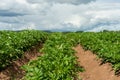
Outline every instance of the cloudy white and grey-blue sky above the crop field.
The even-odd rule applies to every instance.
[[[120,30],[120,0],[0,0],[0,30]]]

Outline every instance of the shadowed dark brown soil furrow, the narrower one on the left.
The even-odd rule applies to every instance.
[[[41,44],[34,46],[30,50],[26,51],[22,58],[14,61],[5,70],[2,70],[0,72],[0,80],[20,80],[25,75],[25,71],[21,69],[21,66],[40,56],[41,53],[39,53],[38,50],[41,47]]]

